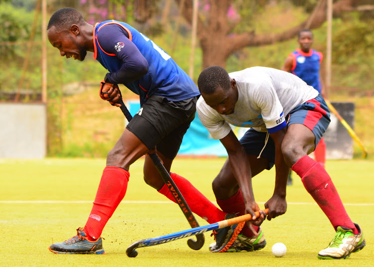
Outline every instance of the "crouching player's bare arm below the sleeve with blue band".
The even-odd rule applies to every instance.
[[[282,142],[287,132],[287,127],[275,133],[270,133],[270,137],[275,144],[275,185],[273,196],[265,203],[265,207],[269,208],[267,219],[270,221],[279,215],[286,213],[286,187],[288,173],[290,168],[284,161],[282,153]]]

